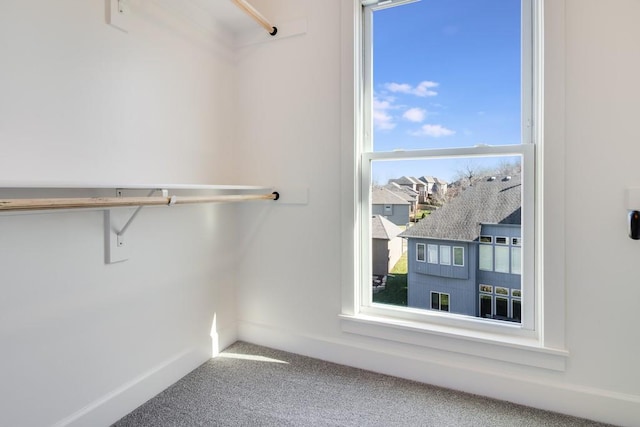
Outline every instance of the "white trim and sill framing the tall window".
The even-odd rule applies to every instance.
[[[544,16],[544,50],[535,46],[535,55],[544,72],[543,85],[538,91],[538,110],[534,116],[542,117],[544,128],[537,126],[537,142],[544,136],[544,145],[536,152],[536,186],[544,198],[535,210],[535,265],[536,280],[544,281],[543,292],[536,292],[535,334],[531,337],[509,336],[500,331],[478,331],[459,325],[426,324],[410,319],[363,313],[360,310],[361,271],[357,266],[363,248],[358,230],[362,220],[359,175],[362,161],[359,144],[364,137],[362,126],[362,93],[360,77],[363,63],[362,13],[358,0],[341,3],[341,133],[342,133],[342,319],[343,332],[365,337],[400,342],[417,347],[435,348],[466,355],[489,358],[516,364],[562,371],[568,352],[565,350],[565,285],[564,285],[564,218],[565,185],[563,165],[565,114],[565,0],[537,0]],[[539,24],[539,23],[538,23]],[[542,61],[544,59],[544,63]],[[540,178],[544,175],[544,180]],[[522,236],[523,241],[534,235]],[[553,263],[545,262],[552,259]],[[531,267],[531,266],[529,266]],[[448,315],[450,316],[450,315]],[[467,322],[468,323],[468,322]],[[348,341],[349,337],[345,336]]]

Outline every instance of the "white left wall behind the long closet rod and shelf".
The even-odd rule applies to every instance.
[[[0,2],[0,186],[250,184],[233,52],[130,3],[124,34],[102,0]],[[113,265],[101,211],[0,215],[0,425],[109,425],[233,342],[236,209],[145,208]]]

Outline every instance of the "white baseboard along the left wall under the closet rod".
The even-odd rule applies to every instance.
[[[210,346],[186,349],[58,421],[53,427],[111,425],[210,358]]]

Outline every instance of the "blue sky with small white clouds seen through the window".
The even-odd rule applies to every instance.
[[[520,15],[520,0],[421,0],[375,12],[374,150],[519,144]],[[420,163],[378,162],[374,181],[451,180],[462,165],[488,165]]]

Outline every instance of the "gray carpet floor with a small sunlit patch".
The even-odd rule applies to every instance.
[[[237,342],[114,426],[604,424]]]

